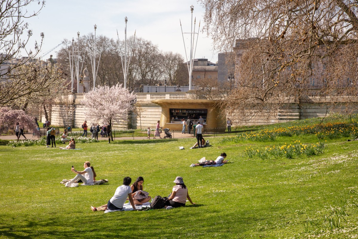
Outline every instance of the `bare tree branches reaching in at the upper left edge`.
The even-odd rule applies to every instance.
[[[26,8],[34,4],[38,5],[38,10],[29,13]],[[37,0],[0,0],[0,105],[40,92],[51,82],[47,77],[49,72],[45,72],[43,66],[29,64],[37,57],[44,34],[39,36],[40,43],[35,42],[30,48],[28,42],[32,30],[28,29],[26,18],[37,16],[43,6],[44,1]],[[23,67],[26,64],[29,67]]]

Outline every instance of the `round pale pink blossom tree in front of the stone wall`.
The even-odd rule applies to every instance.
[[[121,84],[112,87],[101,86],[96,91],[85,94],[81,103],[86,108],[86,118],[92,122],[120,123],[133,109],[135,95],[124,89]],[[113,137],[112,141],[113,141]]]

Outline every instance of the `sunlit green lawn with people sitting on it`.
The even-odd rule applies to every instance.
[[[189,149],[193,139],[116,140],[77,144],[83,150],[10,148],[1,141],[0,238],[357,237],[357,141],[327,140],[325,153],[309,158],[243,156],[248,146],[265,148],[296,139],[318,141],[313,135],[238,144],[219,144],[221,138],[211,138],[213,147]],[[222,167],[189,167],[222,152],[230,162]],[[59,183],[74,176],[72,165],[80,169],[84,161],[95,167],[97,179],[109,183],[77,188]],[[196,205],[92,212],[90,206],[105,204],[125,176],[132,181],[144,177],[144,189],[152,197],[167,196],[175,177],[182,176]],[[340,228],[325,229],[321,218],[334,219],[333,208],[343,209]]]

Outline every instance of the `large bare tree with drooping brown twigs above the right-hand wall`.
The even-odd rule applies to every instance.
[[[201,3],[204,30],[218,49],[235,44],[239,59],[229,109],[270,110],[310,96],[324,96],[332,104],[339,98],[357,101],[358,1]]]

